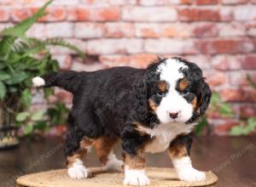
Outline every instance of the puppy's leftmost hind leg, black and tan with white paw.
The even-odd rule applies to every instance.
[[[69,131],[65,152],[67,156],[67,173],[71,178],[89,178],[90,171],[84,166],[83,157],[93,144],[91,139],[83,139],[75,130]]]

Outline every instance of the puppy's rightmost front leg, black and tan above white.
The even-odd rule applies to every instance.
[[[201,181],[206,179],[206,174],[192,167],[189,157],[192,137],[190,135],[178,136],[169,147],[169,156],[172,158],[173,166],[177,176],[184,181]]]

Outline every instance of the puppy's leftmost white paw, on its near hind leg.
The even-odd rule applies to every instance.
[[[68,168],[67,173],[71,178],[81,179],[90,177],[90,171],[83,165],[75,165],[70,167]]]

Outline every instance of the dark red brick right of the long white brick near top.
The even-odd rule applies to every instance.
[[[201,21],[220,20],[220,14],[216,8],[182,8],[178,11],[179,20]]]

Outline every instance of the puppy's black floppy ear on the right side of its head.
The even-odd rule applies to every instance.
[[[207,111],[207,108],[210,104],[211,97],[212,97],[212,91],[211,91],[209,85],[204,80],[201,81],[201,86],[199,87],[199,89],[200,89],[199,111],[200,111],[200,115],[202,116]]]

